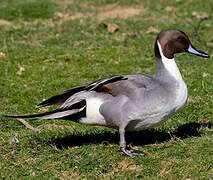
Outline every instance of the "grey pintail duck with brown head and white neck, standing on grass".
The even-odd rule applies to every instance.
[[[197,50],[181,30],[161,31],[155,40],[154,76],[122,74],[73,87],[38,104],[58,105],[53,111],[7,118],[63,119],[76,123],[117,129],[120,151],[127,156],[145,156],[126,143],[127,131],[153,128],[186,105],[187,85],[176,65],[176,53],[210,56]]]

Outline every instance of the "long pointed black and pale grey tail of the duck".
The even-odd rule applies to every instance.
[[[53,111],[40,114],[30,114],[23,116],[3,115],[9,118],[40,118],[40,119],[64,119],[78,121],[81,117],[86,116],[86,100],[77,102],[67,108],[58,108]]]

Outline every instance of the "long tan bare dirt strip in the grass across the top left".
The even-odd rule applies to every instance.
[[[58,0],[57,3],[63,4],[63,6],[66,6],[68,4],[72,4],[73,1],[69,0]],[[64,4],[65,3],[65,4]],[[82,6],[86,6],[85,4]],[[146,9],[143,7],[135,8],[135,7],[124,7],[120,6],[118,3],[94,7],[90,6],[93,11],[90,13],[81,13],[81,12],[75,12],[71,13],[68,12],[66,9],[62,9],[62,11],[57,11],[54,14],[53,18],[50,19],[35,19],[33,21],[24,21],[24,20],[18,20],[18,21],[6,21],[4,19],[0,19],[0,26],[4,27],[13,27],[15,29],[22,28],[22,25],[43,25],[47,27],[54,27],[56,24],[61,25],[66,21],[71,21],[75,19],[80,19],[80,24],[83,24],[85,21],[85,18],[87,17],[93,17],[97,19],[99,22],[103,22],[103,20],[110,18],[121,18],[126,19],[133,16],[137,16],[139,14],[144,14],[146,12]]]

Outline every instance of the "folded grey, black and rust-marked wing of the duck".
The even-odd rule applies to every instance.
[[[80,99],[88,97],[89,92],[110,94],[111,96],[118,94],[128,96],[128,94],[136,88],[151,88],[153,84],[151,82],[153,82],[153,78],[144,74],[120,75],[98,79],[94,82],[69,89],[63,94],[53,96],[38,106],[62,105],[66,101],[69,102],[68,104],[72,104],[71,102],[76,103]],[[76,97],[77,100],[75,101],[74,99]]]

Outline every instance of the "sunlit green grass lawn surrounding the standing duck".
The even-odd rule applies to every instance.
[[[1,0],[0,4],[1,114],[44,111],[36,109],[43,99],[97,78],[153,74],[153,43],[162,29],[183,30],[195,47],[213,55],[210,0]],[[118,17],[110,15],[114,10]],[[204,15],[208,18],[201,21]],[[101,22],[120,29],[108,33]],[[130,30],[137,36],[128,36]],[[187,106],[158,128],[127,134],[128,143],[148,145],[139,148],[146,157],[123,156],[115,130],[29,120],[40,129],[34,132],[19,121],[1,118],[0,178],[213,178],[212,59],[181,54],[176,61],[189,89]],[[11,136],[19,143],[10,144]]]

